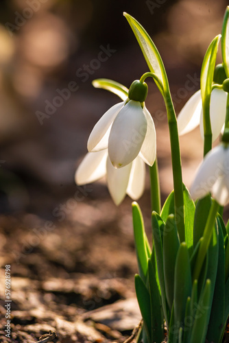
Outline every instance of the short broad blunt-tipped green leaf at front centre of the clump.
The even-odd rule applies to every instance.
[[[191,265],[189,252],[185,242],[180,244],[176,258],[174,275],[174,316],[175,322],[184,321],[186,300],[191,296]]]

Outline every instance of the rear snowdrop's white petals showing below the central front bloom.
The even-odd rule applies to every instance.
[[[145,163],[137,156],[134,161],[120,169],[113,167],[108,150],[88,152],[75,172],[77,185],[85,185],[106,176],[112,200],[119,205],[128,194],[137,200],[145,187]]]

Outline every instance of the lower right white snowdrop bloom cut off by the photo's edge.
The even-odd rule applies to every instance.
[[[221,206],[229,201],[228,144],[222,143],[210,150],[197,170],[190,191],[192,198],[203,198],[209,192]]]

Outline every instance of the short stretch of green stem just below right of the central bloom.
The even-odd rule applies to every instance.
[[[149,167],[150,189],[151,189],[151,208],[152,212],[160,214],[160,182],[158,176],[158,160],[156,158],[152,167]]]

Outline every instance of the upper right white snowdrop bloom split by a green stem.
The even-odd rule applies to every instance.
[[[226,118],[227,95],[223,89],[214,88],[210,95],[210,123],[213,142],[219,137]],[[194,93],[186,102],[178,115],[178,132],[181,136],[200,125],[200,133],[204,139],[203,110],[200,91]]]

